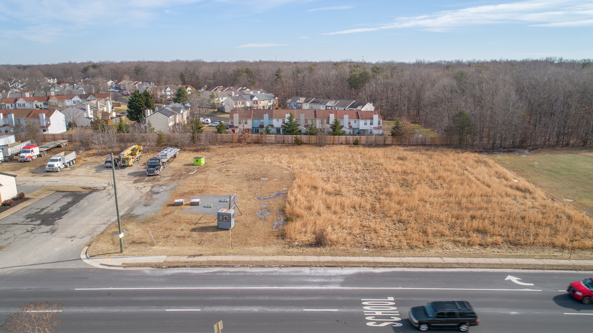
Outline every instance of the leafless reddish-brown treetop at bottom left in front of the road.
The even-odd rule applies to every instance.
[[[28,303],[8,315],[0,328],[9,333],[55,333],[60,326],[60,303]]]

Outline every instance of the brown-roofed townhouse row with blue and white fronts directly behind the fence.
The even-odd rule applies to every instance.
[[[232,110],[229,130],[232,133],[240,133],[247,129],[251,133],[260,133],[270,126],[273,133],[282,134],[282,127],[288,121],[291,112],[298,121],[301,133],[307,132],[312,124],[320,130],[327,131],[336,118],[340,120],[346,134],[383,133],[381,115],[376,111],[318,109],[303,109],[295,112],[260,109]]]

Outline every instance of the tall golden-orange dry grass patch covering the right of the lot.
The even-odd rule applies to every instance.
[[[591,248],[593,221],[475,153],[332,146],[266,156],[295,172],[288,238],[319,245]]]

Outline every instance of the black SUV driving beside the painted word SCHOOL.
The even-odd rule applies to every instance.
[[[467,331],[470,326],[480,324],[480,319],[469,302],[455,300],[451,302],[431,302],[425,306],[410,309],[412,325],[426,331],[429,328],[458,328]]]

